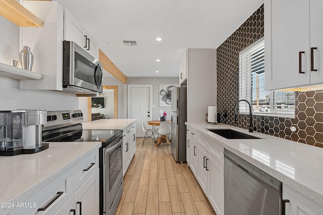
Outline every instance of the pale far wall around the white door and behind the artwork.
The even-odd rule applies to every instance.
[[[127,84],[129,85],[152,85],[152,120],[159,119],[157,115],[159,109],[164,110],[167,114],[167,119],[171,119],[171,107],[159,107],[159,84],[179,84],[178,77],[156,78],[156,77],[128,77]]]

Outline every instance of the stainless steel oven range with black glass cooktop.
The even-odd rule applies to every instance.
[[[43,126],[43,142],[100,141],[99,149],[99,214],[115,214],[123,191],[123,130],[84,130],[80,110],[48,111]]]

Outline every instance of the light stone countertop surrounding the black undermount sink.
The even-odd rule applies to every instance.
[[[323,205],[323,149],[226,124],[186,122],[197,132]],[[206,129],[231,128],[261,139],[227,139]]]

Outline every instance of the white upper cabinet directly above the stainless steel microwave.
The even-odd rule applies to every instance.
[[[64,9],[64,40],[76,42],[95,58],[99,56],[97,43],[66,9]]]

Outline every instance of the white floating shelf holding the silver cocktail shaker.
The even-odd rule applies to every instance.
[[[0,63],[0,76],[17,80],[42,80],[43,75],[26,69]]]

